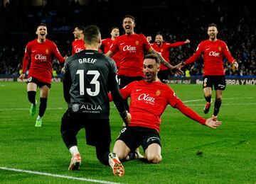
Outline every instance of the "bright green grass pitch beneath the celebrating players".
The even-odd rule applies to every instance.
[[[171,85],[181,100],[203,117],[205,100],[201,85]],[[213,91],[215,96],[215,91]],[[37,93],[37,100],[39,97]],[[26,84],[0,83],[0,167],[18,168],[63,176],[90,178],[116,183],[255,183],[256,182],[256,87],[227,86],[217,130],[202,126],[168,106],[162,115],[160,164],[125,162],[122,178],[97,161],[95,148],[85,145],[78,134],[82,156],[80,171],[68,171],[70,153],[60,136],[60,118],[67,105],[62,84],[52,84],[42,127],[30,117]],[[190,101],[195,100],[195,101]],[[214,99],[213,99],[214,103]],[[39,106],[39,105],[38,105]],[[114,105],[110,124],[112,146],[122,127]],[[142,149],[141,149],[142,152]],[[68,178],[39,176],[0,169],[0,183],[85,183]]]

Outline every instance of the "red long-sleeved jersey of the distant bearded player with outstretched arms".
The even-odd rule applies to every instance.
[[[159,46],[156,44],[156,42],[151,43],[151,47],[156,50],[156,52],[159,52],[162,57],[166,60],[166,62],[169,62],[169,55],[170,55],[170,48],[171,47],[178,47],[181,45],[184,45],[185,42],[174,42],[174,43],[169,43],[169,42],[162,42],[162,44]],[[164,64],[160,65],[160,70],[167,70],[169,68],[165,67]]]

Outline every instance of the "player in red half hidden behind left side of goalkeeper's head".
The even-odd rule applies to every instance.
[[[84,30],[85,27],[82,25],[78,25],[75,27],[73,31],[73,35],[75,40],[72,42],[72,54],[76,54],[81,50],[85,50],[85,42],[84,42]]]

